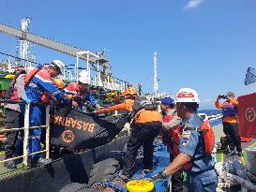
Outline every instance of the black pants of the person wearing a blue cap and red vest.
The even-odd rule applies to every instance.
[[[173,161],[173,154],[170,154],[170,162],[172,163]],[[183,191],[183,179],[182,179],[182,170],[179,170],[175,172],[172,175],[172,192],[182,192]],[[170,191],[167,189],[166,191]]]

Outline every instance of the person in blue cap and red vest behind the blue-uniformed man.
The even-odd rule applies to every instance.
[[[170,96],[160,99],[160,109],[163,115],[163,127],[161,135],[163,142],[167,145],[167,151],[170,153],[170,162],[179,154],[179,140],[180,140],[180,123],[181,118],[178,117],[174,109],[174,101]],[[178,170],[172,175],[172,191],[183,191],[182,171]]]

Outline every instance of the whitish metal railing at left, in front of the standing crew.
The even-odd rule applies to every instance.
[[[40,102],[31,102],[30,104],[26,104],[22,100],[10,100],[10,99],[0,99],[0,103],[12,103],[12,104],[24,104],[24,127],[21,128],[4,128],[0,129],[0,133],[7,133],[10,131],[20,131],[23,130],[23,155],[15,156],[13,158],[8,158],[6,160],[0,161],[0,163],[5,163],[11,160],[21,159],[23,158],[23,165],[28,166],[28,157],[31,155],[43,154],[45,153],[46,158],[50,158],[50,105],[42,104]],[[29,111],[31,105],[43,105],[45,106],[46,113],[46,125],[45,126],[29,126]],[[46,129],[46,137],[45,137],[45,149],[28,154],[28,146],[29,146],[29,130],[35,128],[45,128]]]

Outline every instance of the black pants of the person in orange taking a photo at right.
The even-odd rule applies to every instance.
[[[238,124],[237,123],[230,124],[230,123],[223,122],[223,131],[227,136],[230,149],[234,150],[234,147],[236,147],[237,152],[242,152]]]

